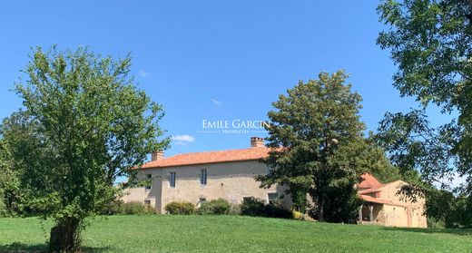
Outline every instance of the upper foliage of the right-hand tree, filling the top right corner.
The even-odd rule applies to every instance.
[[[469,109],[471,8],[456,0],[382,1],[378,12],[389,29],[377,43],[398,64],[394,85],[402,96],[445,110]]]

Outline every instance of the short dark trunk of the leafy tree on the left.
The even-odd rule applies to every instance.
[[[79,246],[79,221],[66,219],[59,221],[51,229],[49,238],[49,251],[51,252],[74,252]]]

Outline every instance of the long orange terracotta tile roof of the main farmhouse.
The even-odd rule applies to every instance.
[[[269,151],[270,148],[253,147],[243,150],[185,153],[144,163],[141,168],[151,169],[229,161],[253,161],[267,157]]]

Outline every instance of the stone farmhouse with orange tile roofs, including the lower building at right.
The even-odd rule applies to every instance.
[[[278,200],[291,207],[286,188],[274,185],[260,188],[254,176],[267,173],[270,168],[261,158],[270,151],[264,140],[251,137],[251,148],[228,151],[205,151],[178,154],[164,158],[163,152],[153,152],[152,161],[137,170],[136,180],[149,180],[144,187],[127,189],[124,202],[152,205],[164,213],[172,201],[188,201],[196,206],[210,199],[227,199],[241,204],[244,198],[263,199],[266,203]],[[424,199],[412,203],[396,194],[403,181],[382,184],[369,174],[358,186],[364,205],[359,209],[359,223],[398,227],[426,227],[423,214]]]

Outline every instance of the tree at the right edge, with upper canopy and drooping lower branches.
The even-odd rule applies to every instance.
[[[420,170],[429,183],[466,176],[472,190],[472,2],[457,0],[382,1],[380,20],[388,24],[377,43],[398,65],[394,86],[413,96],[420,110],[388,113],[381,141],[404,171]],[[435,104],[457,119],[431,127],[425,108]],[[451,118],[454,118],[451,116]]]

